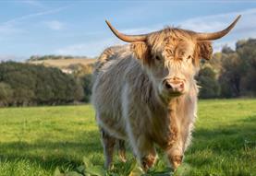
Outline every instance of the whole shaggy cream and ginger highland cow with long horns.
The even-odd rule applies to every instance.
[[[177,169],[197,116],[194,77],[200,59],[211,59],[211,41],[224,37],[238,18],[213,33],[165,28],[143,35],[120,33],[106,21],[117,38],[130,44],[107,48],[93,74],[92,103],[102,131],[105,167],[111,166],[116,142],[126,160],[128,141],[143,170],[156,160],[155,145]]]

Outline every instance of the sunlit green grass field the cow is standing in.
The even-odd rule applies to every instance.
[[[53,175],[84,157],[104,164],[91,105],[0,110],[0,175]],[[201,100],[184,163],[188,175],[256,175],[256,100]],[[118,159],[115,166],[122,175]]]

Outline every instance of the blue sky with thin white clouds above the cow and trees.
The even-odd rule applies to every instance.
[[[30,55],[97,56],[119,41],[106,27],[108,19],[128,34],[165,26],[195,31],[225,28],[239,14],[237,27],[214,41],[215,51],[240,39],[256,38],[253,1],[0,1],[0,60],[22,61]]]

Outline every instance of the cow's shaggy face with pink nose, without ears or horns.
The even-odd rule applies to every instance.
[[[144,64],[161,97],[169,99],[188,92],[197,70],[195,43],[167,37],[162,46],[152,47],[152,61]]]

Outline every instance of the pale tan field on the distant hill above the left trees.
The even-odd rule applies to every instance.
[[[46,65],[55,67],[67,67],[68,65],[89,65],[93,64],[96,59],[49,59],[42,61],[30,61],[30,64],[34,65]]]

